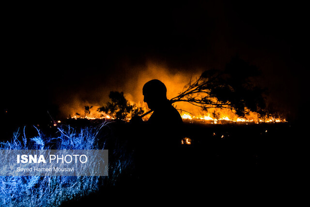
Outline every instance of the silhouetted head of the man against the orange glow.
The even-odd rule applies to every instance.
[[[150,80],[143,86],[144,102],[149,109],[156,110],[167,101],[167,88],[160,80]]]

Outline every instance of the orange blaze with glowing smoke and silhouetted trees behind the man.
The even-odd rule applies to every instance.
[[[183,120],[203,123],[286,122],[289,111],[279,108],[267,90],[258,84],[261,71],[239,57],[233,57],[224,69],[196,69],[173,72],[162,64],[149,62],[139,73],[130,74],[121,92],[117,88],[102,93],[77,91],[70,99],[61,99],[61,118],[122,119],[129,122],[139,115],[151,116],[143,101],[143,85],[153,79],[164,82],[167,98]],[[172,71],[172,72],[171,72]],[[73,97],[73,98],[72,98]],[[143,114],[144,113],[144,114]],[[146,115],[147,114],[147,115]],[[163,115],[162,119],[165,119]]]

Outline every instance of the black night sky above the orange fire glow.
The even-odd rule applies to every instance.
[[[309,23],[297,1],[127,1],[3,10],[1,116],[11,122],[35,122],[47,111],[57,117],[72,97],[96,101],[105,88],[122,90],[148,61],[188,73],[223,68],[235,55],[262,70],[260,84],[288,119],[303,114]]]

